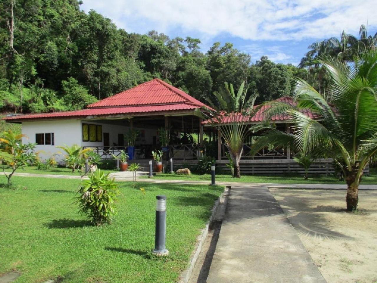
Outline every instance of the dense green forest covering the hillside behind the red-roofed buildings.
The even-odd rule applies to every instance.
[[[95,11],[85,13],[81,4],[0,2],[0,112],[81,109],[152,78],[204,103],[213,100],[224,82],[238,88],[245,81],[248,95],[259,94],[257,103],[289,95],[293,76],[326,95],[328,79],[317,57],[351,62],[377,46],[377,34],[368,35],[362,25],[358,36],[343,31],[340,38],[314,42],[299,66],[274,63],[266,56],[252,62],[232,43],[215,42],[203,52],[199,38],[127,32]]]

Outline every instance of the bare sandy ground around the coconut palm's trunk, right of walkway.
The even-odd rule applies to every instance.
[[[343,190],[270,191],[328,283],[377,283],[377,191],[360,191],[352,213]]]

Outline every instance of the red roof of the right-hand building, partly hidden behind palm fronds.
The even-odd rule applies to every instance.
[[[297,106],[297,102],[293,101],[293,98],[291,97],[288,97],[288,96],[284,96],[284,97],[280,97],[274,101],[277,101],[277,102],[284,102],[284,103],[288,103],[292,106]],[[257,106],[254,106],[254,108],[257,107]],[[230,115],[225,115],[225,114],[222,114],[220,115],[219,117],[217,118],[213,118],[213,119],[210,119],[210,120],[206,120],[206,121],[203,121],[203,124],[210,124],[211,122],[217,122],[217,119],[220,118],[221,122],[220,123],[230,123],[230,122],[262,122],[264,121],[264,111],[269,108],[271,106],[268,106],[268,105],[264,105],[262,106],[256,113],[255,115],[253,115],[252,117],[250,116],[244,116],[240,113],[231,113]],[[303,114],[307,115],[308,117],[310,118],[317,118],[315,114],[313,114],[313,112],[311,112],[309,109],[299,109],[300,112],[302,112]],[[277,122],[277,121],[287,121],[289,120],[289,117],[288,115],[276,115],[274,117],[271,118],[271,121],[274,121],[274,122]]]

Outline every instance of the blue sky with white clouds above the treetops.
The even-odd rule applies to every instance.
[[[233,43],[251,55],[276,63],[297,65],[308,46],[343,30],[358,36],[368,23],[377,32],[377,0],[83,0],[127,32],[146,34],[155,29],[170,38],[201,40],[207,52],[214,42]]]

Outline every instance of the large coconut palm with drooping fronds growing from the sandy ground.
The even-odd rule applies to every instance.
[[[329,104],[307,82],[296,78],[293,98],[298,108],[309,108],[317,117],[308,117],[288,104],[269,103],[267,120],[287,114],[293,134],[270,129],[254,144],[252,153],[268,143],[282,145],[294,142],[302,154],[322,150],[341,167],[346,183],[347,210],[357,208],[359,184],[369,158],[377,152],[377,52],[354,57],[354,64],[336,58],[319,62],[331,75],[333,97]]]

